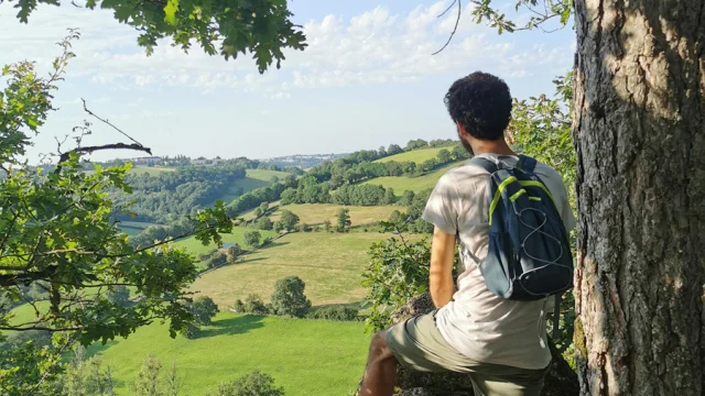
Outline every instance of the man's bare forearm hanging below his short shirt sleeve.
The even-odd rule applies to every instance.
[[[455,285],[453,284],[453,258],[455,254],[455,235],[440,228],[433,231],[431,244],[431,273],[429,284],[431,298],[436,308],[441,308],[453,300]]]

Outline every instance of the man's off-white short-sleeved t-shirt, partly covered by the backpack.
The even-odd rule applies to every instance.
[[[497,164],[514,166],[517,156],[480,154]],[[544,164],[536,176],[546,185],[567,231],[575,228],[563,179]],[[489,174],[473,165],[448,170],[436,184],[422,218],[441,230],[457,234],[460,262],[457,292],[441,308],[436,326],[443,338],[464,355],[478,362],[528,370],[551,362],[545,333],[545,312],[554,298],[514,301],[496,296],[485,285],[478,263],[487,256]]]

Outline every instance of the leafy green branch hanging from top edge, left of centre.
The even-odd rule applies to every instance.
[[[0,3],[15,0],[0,0]],[[24,23],[39,4],[59,6],[59,0],[17,0],[18,19]],[[260,73],[285,59],[286,48],[306,47],[301,26],[294,24],[286,0],[86,0],[72,4],[113,11],[119,22],[140,32],[138,44],[148,55],[162,38],[188,52],[199,45],[208,55],[237,58],[251,53]]]

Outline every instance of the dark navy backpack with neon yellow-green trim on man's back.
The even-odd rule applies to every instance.
[[[474,157],[490,174],[489,248],[479,270],[487,288],[502,298],[531,301],[555,296],[554,337],[561,295],[573,287],[573,255],[553,197],[533,173],[536,161],[519,156],[516,167]]]

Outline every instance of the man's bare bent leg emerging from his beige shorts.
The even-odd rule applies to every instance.
[[[364,396],[391,396],[397,384],[397,358],[387,345],[387,331],[372,337],[360,386]]]

